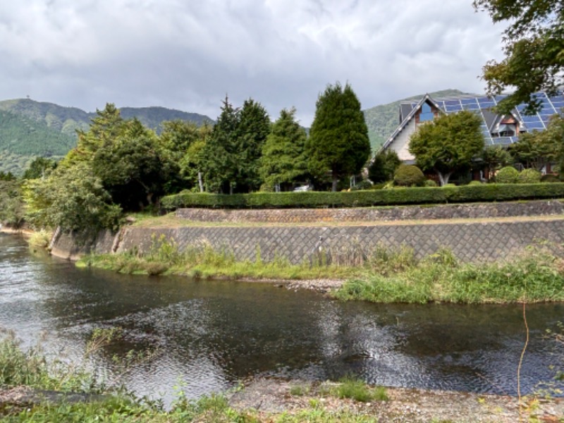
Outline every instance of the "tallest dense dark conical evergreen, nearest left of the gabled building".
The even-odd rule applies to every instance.
[[[348,85],[327,85],[317,99],[306,144],[312,173],[331,171],[332,190],[341,176],[360,172],[370,155],[368,128],[360,102]]]

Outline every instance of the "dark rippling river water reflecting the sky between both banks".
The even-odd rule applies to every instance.
[[[550,365],[562,360],[542,335],[563,319],[563,304],[527,306],[524,393],[551,379]],[[90,365],[165,402],[179,381],[197,398],[252,376],[345,374],[385,386],[515,395],[525,341],[520,305],[344,303],[265,283],[125,276],[32,254],[24,240],[3,234],[0,326],[69,362],[83,360],[94,329],[121,327],[123,340]],[[121,374],[112,356],[129,350],[152,357]]]

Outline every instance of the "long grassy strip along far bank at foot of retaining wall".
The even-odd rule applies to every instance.
[[[317,261],[290,264],[284,257],[264,262],[259,250],[254,260],[238,261],[233,252],[217,251],[206,243],[180,251],[174,240],[161,235],[153,238],[147,254],[92,255],[77,266],[193,278],[342,279],[346,280],[342,288],[332,293],[340,300],[419,304],[564,301],[564,261],[545,247],[529,247],[508,261],[472,264],[458,262],[446,249],[416,259],[410,247],[376,246],[364,255],[353,245]]]

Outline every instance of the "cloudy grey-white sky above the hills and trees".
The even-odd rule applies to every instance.
[[[472,0],[0,0],[0,99],[86,111],[106,102],[216,118],[228,94],[309,125],[349,82],[362,108],[483,92],[503,26]]]

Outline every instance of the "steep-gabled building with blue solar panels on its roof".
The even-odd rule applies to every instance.
[[[482,133],[485,145],[511,145],[517,142],[520,133],[544,130],[554,114],[562,114],[564,109],[563,92],[549,97],[544,92],[533,94],[541,102],[541,108],[534,115],[525,114],[525,104],[520,104],[510,114],[497,114],[492,109],[504,99],[496,97],[477,97],[465,95],[433,99],[426,94],[419,102],[410,100],[400,104],[400,125],[384,143],[381,149],[393,149],[401,160],[413,163],[415,158],[409,152],[409,142],[417,125],[432,121],[439,114],[451,114],[461,110],[474,111],[482,118]]]

